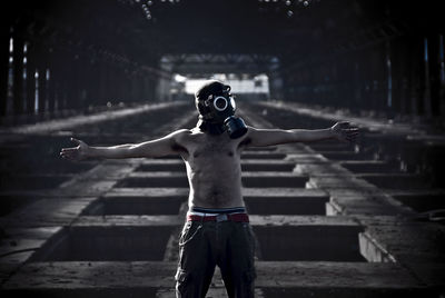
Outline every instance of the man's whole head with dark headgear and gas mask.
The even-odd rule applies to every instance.
[[[195,92],[195,105],[199,111],[198,127],[210,135],[224,131],[233,139],[247,132],[243,119],[235,117],[235,100],[230,95],[230,86],[217,80],[206,81]]]

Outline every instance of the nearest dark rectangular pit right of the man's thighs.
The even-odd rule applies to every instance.
[[[366,261],[363,226],[349,217],[253,215],[250,224],[264,261]]]

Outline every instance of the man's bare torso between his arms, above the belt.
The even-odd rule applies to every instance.
[[[245,139],[230,139],[227,133],[211,136],[192,129],[176,140],[186,162],[190,208],[244,206],[240,153]]]

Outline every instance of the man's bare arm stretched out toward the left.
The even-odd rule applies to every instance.
[[[81,140],[71,138],[71,141],[76,142],[78,146],[73,148],[63,148],[60,151],[60,156],[70,160],[83,160],[87,158],[152,158],[175,155],[181,151],[181,147],[177,143],[177,138],[187,132],[187,129],[177,130],[160,139],[141,143],[126,143],[111,147],[92,147]]]

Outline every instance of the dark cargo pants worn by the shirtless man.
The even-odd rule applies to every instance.
[[[249,222],[187,221],[179,238],[176,297],[206,297],[217,265],[230,298],[254,297],[254,254]]]

